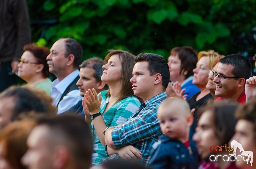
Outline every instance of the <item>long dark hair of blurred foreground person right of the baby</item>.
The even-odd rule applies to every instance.
[[[239,104],[233,100],[214,102],[210,100],[207,104],[199,109],[198,115],[210,111],[213,117],[214,133],[219,140],[220,145],[228,143],[235,134],[235,124],[237,120],[234,117],[235,111]]]

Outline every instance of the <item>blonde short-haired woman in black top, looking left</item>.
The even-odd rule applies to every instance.
[[[209,74],[213,74],[211,70],[221,57],[222,56],[217,52],[214,52],[214,50],[201,51],[198,53],[198,62],[196,68],[193,69],[194,79],[192,83],[199,87],[200,92],[196,93],[187,100],[190,105],[190,109],[195,108],[194,122],[191,126],[192,133],[195,132],[195,127],[197,126],[197,110],[205,105],[207,100],[213,99],[213,96],[211,95],[210,90],[206,87],[206,85],[208,83]],[[215,84],[213,84],[213,86],[215,86]]]

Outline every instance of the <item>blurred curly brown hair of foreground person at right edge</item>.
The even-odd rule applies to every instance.
[[[246,105],[240,105],[235,112],[235,118],[237,120],[244,119],[253,124],[253,134],[254,139],[256,140],[256,100],[253,100]]]

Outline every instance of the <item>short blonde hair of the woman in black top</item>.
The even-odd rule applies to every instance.
[[[201,57],[208,57],[209,59],[209,69],[212,70],[213,67],[217,64],[219,59],[223,58],[224,55],[219,54],[218,52],[215,52],[214,50],[208,50],[208,51],[201,51],[198,53],[198,61]]]

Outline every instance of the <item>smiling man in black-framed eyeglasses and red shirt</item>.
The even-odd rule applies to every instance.
[[[213,75],[218,96],[215,101],[232,99],[245,103],[245,82],[251,76],[251,63],[246,57],[230,54],[221,58]]]

